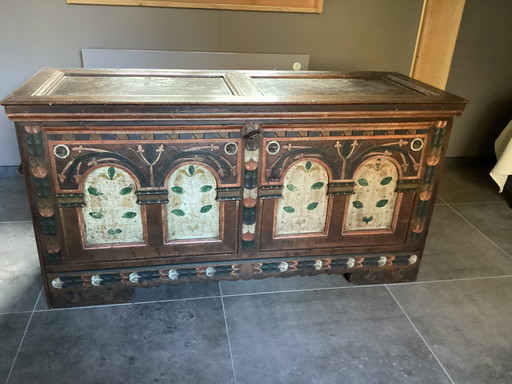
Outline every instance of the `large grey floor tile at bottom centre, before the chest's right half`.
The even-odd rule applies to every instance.
[[[224,303],[238,384],[450,382],[385,287]]]

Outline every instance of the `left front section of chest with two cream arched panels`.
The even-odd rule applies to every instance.
[[[93,130],[45,135],[70,262],[236,252],[239,126]]]

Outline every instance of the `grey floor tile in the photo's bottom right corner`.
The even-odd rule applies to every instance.
[[[457,384],[512,383],[512,278],[389,288]]]

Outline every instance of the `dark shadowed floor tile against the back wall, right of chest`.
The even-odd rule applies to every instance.
[[[438,196],[447,203],[504,201],[489,176],[492,166],[446,166]]]

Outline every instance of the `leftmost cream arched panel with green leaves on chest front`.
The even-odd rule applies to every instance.
[[[84,200],[86,246],[144,241],[141,207],[128,172],[114,166],[94,169],[84,181]]]

